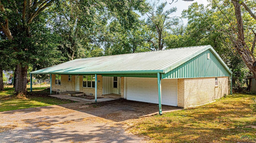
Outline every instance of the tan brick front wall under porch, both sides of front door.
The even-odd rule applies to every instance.
[[[72,76],[72,82],[68,81],[68,75],[61,75],[61,85],[56,85],[55,74],[52,74],[52,91],[57,91],[57,90],[60,90],[60,92],[75,91],[75,88],[76,88],[75,75]],[[90,96],[90,93],[92,93],[92,96],[95,96],[95,88],[83,87],[82,75],[80,75],[80,92],[84,92],[88,96]],[[97,75],[97,96],[102,96],[102,76],[101,75]]]

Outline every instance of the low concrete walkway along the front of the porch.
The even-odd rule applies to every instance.
[[[84,99],[84,98],[78,98],[74,96],[68,96],[66,94],[54,94],[54,95],[49,95],[52,97],[60,98],[60,99],[68,99],[76,102],[87,102],[87,103],[94,103],[95,99]],[[118,98],[99,98],[97,99],[97,102],[104,102],[104,101],[110,101],[110,100],[116,100]]]

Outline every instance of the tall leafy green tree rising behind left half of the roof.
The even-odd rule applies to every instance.
[[[133,11],[143,11],[144,5],[140,0],[62,2],[56,6],[56,18],[52,20],[56,33],[62,37],[62,53],[67,54],[67,60],[103,55],[101,44],[110,39],[106,36],[108,23],[114,21],[130,29],[138,20]]]

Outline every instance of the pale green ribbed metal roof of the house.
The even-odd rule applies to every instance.
[[[210,49],[225,69],[232,74],[212,46],[194,46],[142,53],[75,59],[31,74],[152,74],[167,73]]]

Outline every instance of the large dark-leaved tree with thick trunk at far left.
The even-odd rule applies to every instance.
[[[49,6],[54,0],[8,0],[0,1],[0,31],[6,39],[12,40],[12,49],[15,51],[16,61],[16,86],[15,91],[18,94],[26,94],[27,71],[29,64],[30,51],[33,51],[32,30],[37,23],[36,18]]]

